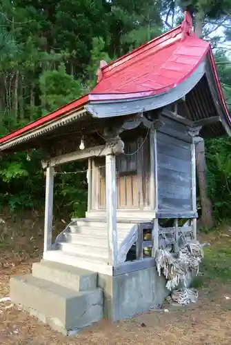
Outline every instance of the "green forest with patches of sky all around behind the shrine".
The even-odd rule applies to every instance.
[[[1,0],[0,135],[77,99],[111,61],[177,25],[183,11],[210,41],[231,110],[231,0]],[[217,221],[231,215],[231,139],[206,141],[208,195]],[[0,161],[0,207],[40,209],[45,178],[39,151]],[[85,170],[83,163],[66,172]],[[82,217],[86,172],[55,177],[54,215]],[[200,200],[198,200],[200,204]]]

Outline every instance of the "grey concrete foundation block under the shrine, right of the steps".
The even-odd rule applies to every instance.
[[[98,276],[103,289],[103,316],[112,321],[130,318],[163,304],[169,290],[166,280],[159,277],[155,266],[117,275]]]

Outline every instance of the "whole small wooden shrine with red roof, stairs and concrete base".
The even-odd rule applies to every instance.
[[[0,139],[3,153],[46,152],[43,260],[12,278],[11,295],[65,334],[163,302],[155,251],[197,236],[195,145],[231,128],[210,44],[187,12],[177,28],[102,61],[97,77],[88,95]],[[55,169],[78,159],[88,160],[86,218],[52,243]]]

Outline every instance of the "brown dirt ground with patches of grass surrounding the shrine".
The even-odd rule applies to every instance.
[[[23,244],[21,243],[19,246],[19,238],[16,236],[12,239],[11,250],[10,246],[0,247],[2,263],[0,298],[9,294],[11,275],[30,272],[32,262],[38,261],[42,243],[40,237],[39,231],[34,239],[28,239],[26,235]],[[99,324],[81,331],[75,337],[63,337],[28,313],[12,306],[10,302],[2,302],[0,303],[0,344],[230,344],[230,229],[225,228],[225,231],[212,233],[210,236],[203,235],[203,240],[210,242],[211,246],[208,253],[205,253],[203,275],[198,283],[200,287],[197,304],[171,306],[166,302],[164,308],[168,311],[152,311],[115,324],[103,320]],[[28,242],[30,243],[28,244]],[[30,254],[26,249],[29,245]],[[36,249],[31,250],[31,247]],[[208,266],[208,262],[212,266]]]

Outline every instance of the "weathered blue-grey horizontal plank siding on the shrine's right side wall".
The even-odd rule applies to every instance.
[[[185,125],[164,119],[165,128],[186,132]],[[158,210],[163,212],[192,210],[191,144],[157,131]]]

